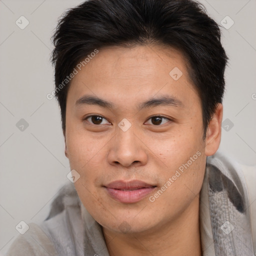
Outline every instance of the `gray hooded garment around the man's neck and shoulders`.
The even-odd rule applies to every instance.
[[[255,181],[255,166],[221,153],[207,157],[199,206],[203,256],[256,255]],[[28,226],[6,256],[109,256],[102,227],[72,183],[59,190],[46,220]]]

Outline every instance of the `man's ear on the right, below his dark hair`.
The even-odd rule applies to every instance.
[[[221,138],[222,115],[223,115],[223,106],[221,103],[218,103],[206,131],[205,148],[204,148],[206,156],[214,154],[219,147],[220,138]]]

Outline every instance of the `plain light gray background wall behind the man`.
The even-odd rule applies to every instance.
[[[80,2],[0,0],[0,254],[18,235],[17,223],[40,223],[69,182],[58,105],[46,94],[54,89],[50,36],[62,12]],[[219,24],[231,24],[227,15],[234,21],[221,28],[230,60],[220,149],[256,164],[256,1],[200,2]],[[21,15],[29,21],[24,29],[15,23]]]

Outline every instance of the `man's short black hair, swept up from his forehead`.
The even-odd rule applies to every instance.
[[[189,77],[201,99],[205,136],[224,93],[228,58],[220,35],[218,24],[193,0],[87,0],[67,10],[52,36],[51,57],[63,132],[70,83],[66,77],[77,63],[106,46],[164,44],[179,49],[187,59]]]

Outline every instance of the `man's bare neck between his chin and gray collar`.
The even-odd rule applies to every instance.
[[[103,228],[110,256],[200,256],[199,198],[171,223],[139,233],[117,233]]]

